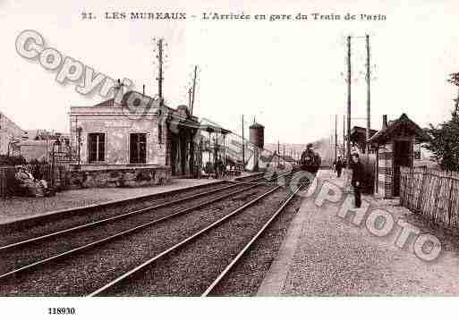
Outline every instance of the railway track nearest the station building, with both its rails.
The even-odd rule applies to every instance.
[[[257,179],[251,180],[251,182],[255,182]],[[129,234],[135,233],[135,232],[140,232],[142,229],[147,229],[155,224],[162,224],[165,223],[167,220],[173,219],[174,217],[177,217],[179,215],[183,215],[186,213],[190,213],[192,211],[196,211],[202,207],[206,207],[208,205],[211,205],[213,203],[216,203],[218,201],[222,201],[223,199],[235,196],[235,195],[241,195],[243,192],[256,189],[257,186],[263,185],[263,183],[255,183],[255,184],[246,184],[247,182],[241,182],[241,183],[235,183],[230,186],[225,186],[223,188],[218,188],[217,190],[210,190],[210,191],[204,191],[200,192],[198,194],[191,195],[186,198],[182,199],[174,199],[173,201],[165,202],[162,204],[158,204],[153,207],[148,207],[148,208],[142,208],[139,210],[135,211],[130,211],[127,213],[123,213],[121,215],[115,215],[112,217],[104,218],[102,220],[98,220],[95,222],[91,222],[89,224],[81,224],[77,226],[73,226],[71,228],[67,228],[64,230],[56,231],[56,232],[51,232],[47,233],[44,235],[40,235],[38,237],[30,238],[27,240],[22,240],[22,241],[16,241],[10,244],[6,244],[2,247],[0,247],[0,258],[2,258],[2,264],[0,264],[0,269],[3,272],[2,275],[0,275],[0,291],[2,291],[2,285],[1,283],[4,282],[5,280],[8,279],[16,279],[18,275],[21,274],[27,274],[28,272],[32,272],[34,269],[39,269],[42,268],[42,266],[49,265],[49,263],[52,262],[59,262],[63,260],[64,258],[71,258],[72,256],[76,256],[78,254],[84,253],[85,251],[88,251],[90,249],[94,249],[100,246],[103,246],[106,243],[109,243],[110,241],[115,241],[118,239],[123,239],[124,237],[128,236]],[[265,187],[266,188],[266,187]],[[221,195],[217,195],[217,193],[220,193]],[[204,200],[200,201],[200,198],[208,197],[209,195],[217,195],[217,197],[214,197],[213,199],[210,200]],[[194,204],[190,205],[187,203],[187,206],[185,208],[172,208],[174,205],[180,205],[189,201],[193,201]],[[74,243],[72,241],[69,242],[69,235],[73,233],[73,240],[79,239],[78,232],[83,232],[83,231],[88,231],[88,229],[93,229],[95,234],[100,235],[100,227],[106,224],[113,224],[114,222],[117,221],[122,221],[130,217],[140,217],[139,215],[143,215],[145,213],[148,213],[153,210],[157,210],[159,208],[169,208],[171,209],[169,214],[166,214],[160,217],[156,217],[152,220],[149,220],[148,222],[143,222],[141,224],[138,224],[138,221],[135,221],[133,224],[134,226],[128,228],[128,229],[123,229],[121,232],[115,232],[113,233],[112,230],[107,232],[107,236],[104,238],[99,238],[96,241],[89,241],[89,242],[84,242],[84,244],[80,246],[74,246]],[[95,228],[98,227],[96,230]],[[76,234],[75,234],[76,233]],[[102,233],[103,234],[103,233]],[[56,242],[56,238],[62,238],[60,242]],[[86,240],[86,238],[83,238]],[[56,244],[57,247],[56,247]],[[70,245],[69,245],[70,244]],[[73,245],[73,247],[72,247]],[[70,247],[71,249],[65,249]],[[24,257],[24,248],[26,248],[26,252],[29,251],[33,253],[37,253],[38,249],[60,249],[60,252],[57,251],[57,253],[54,253],[50,255],[45,254],[46,258],[40,258],[40,259],[35,259],[33,256],[26,255],[26,258],[28,260],[25,260],[22,258],[18,258],[18,255],[21,257]],[[62,249],[65,249],[64,251]],[[41,250],[39,251],[40,253],[42,252]],[[47,252],[47,251],[45,251]],[[19,253],[19,254],[18,254]],[[35,257],[36,258],[36,257]],[[10,265],[5,264],[5,262],[10,262]],[[26,264],[16,267],[13,270],[8,270],[9,267],[12,266],[11,262],[13,262],[13,265],[17,265],[18,262],[26,262]],[[6,270],[8,270],[6,272]],[[11,283],[10,283],[10,289],[11,289]],[[2,291],[3,292],[3,291]]]

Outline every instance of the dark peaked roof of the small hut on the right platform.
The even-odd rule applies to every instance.
[[[413,122],[406,114],[402,114],[400,118],[391,122],[387,128],[378,131],[370,139],[370,143],[384,144],[388,140],[395,137],[414,135],[418,141],[429,141],[429,135],[419,127],[416,122]]]

